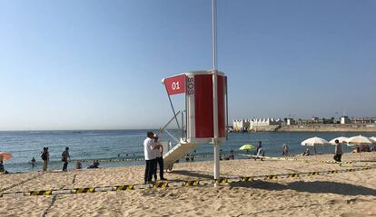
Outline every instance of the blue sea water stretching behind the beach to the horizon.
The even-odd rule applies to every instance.
[[[157,130],[155,130],[157,132]],[[44,146],[49,147],[50,169],[61,169],[61,154],[65,146],[69,146],[72,159],[113,159],[113,158],[143,158],[143,139],[146,130],[84,130],[84,131],[3,131],[0,132],[0,151],[10,152],[13,158],[5,161],[5,169],[9,172],[33,172],[42,169],[40,157]],[[179,137],[181,131],[173,130],[174,137]],[[281,156],[282,145],[290,147],[292,155],[301,154],[305,146],[301,146],[302,140],[309,137],[322,137],[332,139],[334,137],[353,137],[357,133],[282,133],[282,132],[258,132],[258,133],[230,133],[228,140],[221,146],[224,155],[228,155],[233,149],[236,153],[244,144],[257,145],[262,141],[266,156]],[[364,133],[365,137],[376,136]],[[161,141],[172,140],[167,134],[163,134]],[[343,146],[345,152],[351,151],[350,146]],[[204,158],[213,153],[212,145],[201,145],[194,150],[196,160],[212,160]],[[334,146],[320,146],[319,153],[333,153]],[[32,166],[28,162],[35,157],[37,165]],[[90,163],[83,163],[87,167]],[[104,162],[100,167],[143,165],[143,161],[132,162]],[[68,165],[73,169],[74,163]]]

